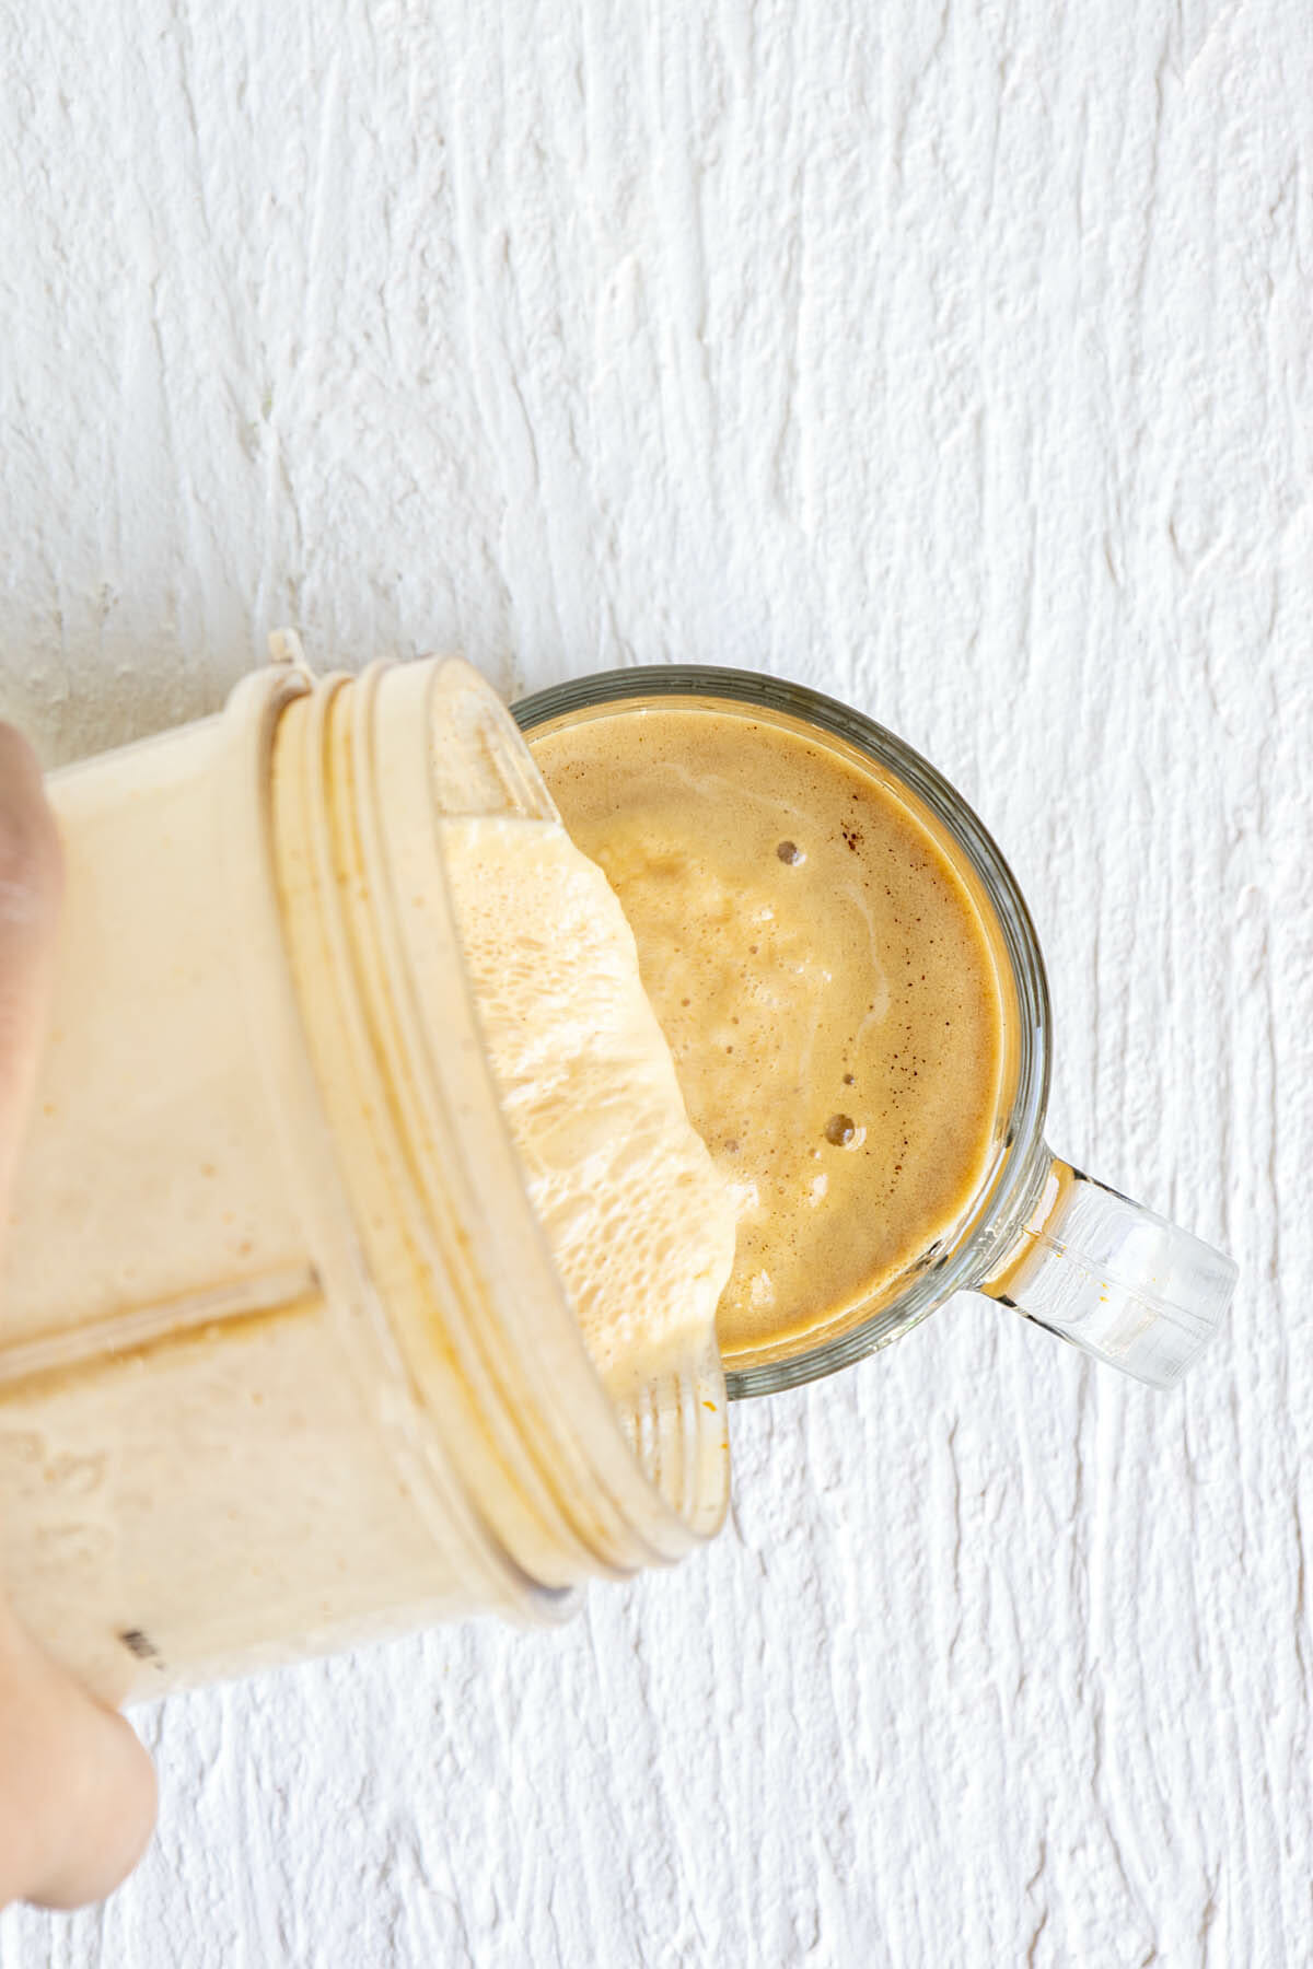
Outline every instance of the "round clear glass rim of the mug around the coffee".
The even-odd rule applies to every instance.
[[[1006,1248],[1033,1205],[1035,1168],[1045,1166],[1043,1120],[1049,1099],[1051,1030],[1049,986],[1022,890],[996,841],[955,786],[896,732],[850,705],[809,685],[791,683],[752,669],[722,669],[711,664],[654,664],[600,669],[571,677],[522,697],[510,707],[522,732],[581,711],[628,699],[695,697],[734,705],[756,705],[783,713],[819,732],[844,740],[858,754],[902,782],[951,835],[974,872],[994,912],[1016,992],[1016,1032],[1008,1008],[1010,1038],[1016,1042],[1016,1087],[1002,1122],[1002,1150],[972,1207],[963,1235],[945,1252],[931,1256],[898,1292],[892,1303],[866,1319],[795,1353],[748,1366],[726,1363],[730,1400],[778,1394],[809,1380],[837,1374],[909,1333],[955,1292],[970,1290],[990,1272],[990,1258]]]

